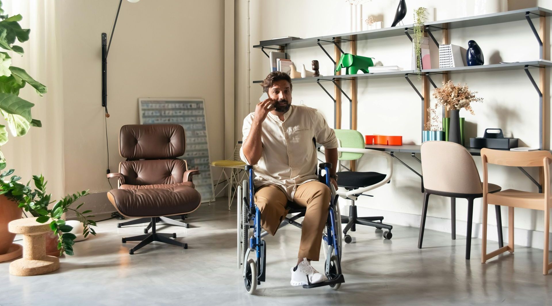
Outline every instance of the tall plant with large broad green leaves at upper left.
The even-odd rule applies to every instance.
[[[0,1],[0,48],[23,55],[21,46],[14,45],[16,40],[29,40],[30,29],[22,29],[19,22],[23,17],[4,15]],[[11,66],[12,57],[7,52],[0,52],[0,115],[6,120],[9,131],[14,136],[24,136],[31,126],[41,127],[40,120],[33,119],[31,109],[34,104],[19,98],[19,90],[26,84],[31,85],[38,95],[47,92],[44,84],[36,81],[23,68]],[[0,147],[8,142],[6,125],[0,124]],[[5,162],[0,151],[0,162]]]

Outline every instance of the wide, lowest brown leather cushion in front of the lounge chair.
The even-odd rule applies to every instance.
[[[125,217],[161,217],[196,210],[201,202],[199,192],[179,185],[163,189],[113,189],[109,201]]]

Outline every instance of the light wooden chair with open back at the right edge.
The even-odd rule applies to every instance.
[[[549,151],[511,152],[491,149],[481,149],[483,161],[483,181],[487,182],[487,164],[496,164],[511,167],[543,167],[544,183],[543,193],[527,192],[515,189],[491,194],[488,189],[483,189],[483,237],[481,244],[481,262],[485,262],[505,251],[514,251],[514,207],[529,208],[544,211],[544,250],[543,250],[543,274],[547,275],[552,269],[552,262],[548,262],[548,236],[550,231],[550,162],[552,154]],[[508,245],[487,253],[487,205],[508,206]]]

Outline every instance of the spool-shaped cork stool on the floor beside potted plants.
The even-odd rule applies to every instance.
[[[23,258],[9,264],[9,273],[17,276],[41,275],[60,269],[60,260],[46,255],[45,233],[49,222],[38,223],[36,218],[17,219],[8,224],[8,230],[23,234]]]

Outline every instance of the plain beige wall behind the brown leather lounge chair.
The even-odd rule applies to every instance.
[[[100,35],[110,35],[118,1],[57,4],[63,50],[65,188],[98,192],[93,202],[102,202],[98,199],[110,186],[105,178]],[[123,1],[108,55],[112,172],[123,160],[118,153],[120,127],[139,123],[138,98],[205,99],[210,157],[223,157],[223,70],[224,1]]]

